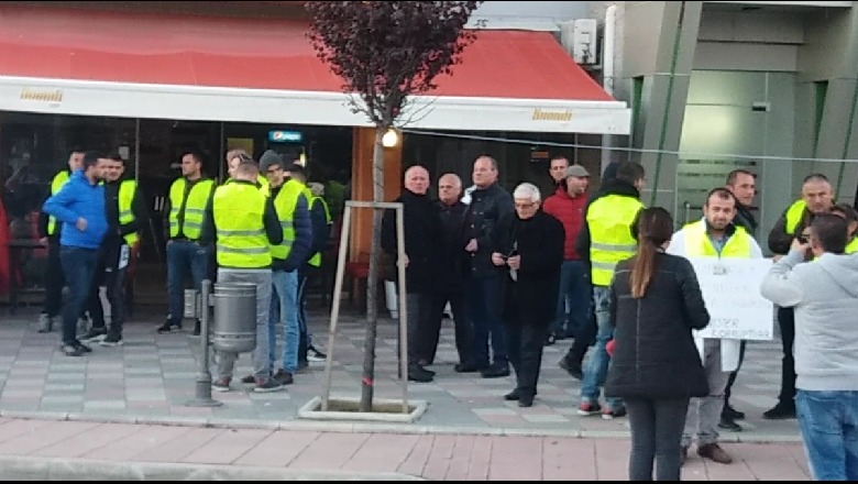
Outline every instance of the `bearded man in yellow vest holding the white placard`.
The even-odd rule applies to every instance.
[[[710,191],[703,206],[703,220],[685,226],[673,234],[669,254],[685,257],[762,258],[762,250],[748,232],[736,224],[738,201],[724,187]],[[739,365],[741,340],[695,337],[706,372],[710,395],[692,398],[682,435],[682,457],[697,437],[697,454],[722,464],[733,459],[718,446],[718,422],[724,409],[724,391],[730,372]]]

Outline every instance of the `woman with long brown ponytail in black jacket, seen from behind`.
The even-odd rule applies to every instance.
[[[673,220],[663,208],[642,210],[635,223],[637,254],[620,262],[610,285],[614,355],[605,394],[620,397],[631,426],[629,480],[679,481],[682,429],[692,397],[708,384],[692,339],[710,314],[684,257],[664,253]]]

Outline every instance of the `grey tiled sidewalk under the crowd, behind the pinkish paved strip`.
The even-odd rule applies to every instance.
[[[0,308],[0,416],[52,418],[124,424],[184,424],[217,427],[250,427],[361,432],[453,433],[474,436],[559,436],[614,438],[628,435],[626,419],[605,421],[579,417],[580,382],[557,366],[570,342],[546,348],[539,395],[532,408],[519,408],[502,396],[514,387],[514,377],[484,380],[453,372],[457,352],[450,321],[438,351],[438,372],[430,384],[409,385],[410,398],[427,400],[426,414],[415,424],[384,427],[372,424],[332,424],[298,420],[300,407],[321,395],[323,363],[311,363],[296,375],[286,392],[254,394],[238,378],[250,373],[250,355],[239,361],[233,391],[215,393],[223,406],[190,408],[197,377],[199,339],[187,333],[156,334],[161,317],[136,315],[127,324],[121,348],[95,346],[84,358],[58,351],[58,333],[35,331],[37,312],[14,317]],[[311,318],[316,341],[327,345],[328,318]],[[396,380],[396,331],[392,321],[380,326],[376,396],[399,398]],[[332,371],[333,396],[358,397],[362,370],[363,320],[344,316],[340,321]],[[734,387],[734,406],[747,414],[743,432],[725,432],[724,441],[799,442],[794,420],[762,420],[776,403],[780,381],[780,343],[748,344],[745,366]]]

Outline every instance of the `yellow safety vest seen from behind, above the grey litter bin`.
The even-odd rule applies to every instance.
[[[271,244],[263,222],[266,204],[267,197],[253,185],[228,184],[215,190],[212,212],[219,266],[271,266]]]

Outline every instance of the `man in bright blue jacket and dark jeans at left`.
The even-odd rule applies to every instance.
[[[77,318],[84,310],[98,262],[98,249],[108,230],[105,187],[101,185],[105,155],[84,154],[84,167],[72,174],[63,188],[45,200],[42,210],[62,222],[59,260],[69,298],[63,307],[63,353],[80,356],[92,351],[77,339]]]

